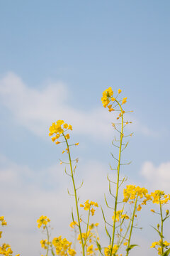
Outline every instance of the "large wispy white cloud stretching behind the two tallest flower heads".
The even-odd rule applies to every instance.
[[[48,128],[57,119],[71,123],[77,134],[88,134],[95,139],[113,138],[115,115],[103,107],[82,111],[67,104],[69,91],[63,82],[47,82],[42,90],[28,87],[14,73],[0,80],[0,99],[23,126],[38,136],[47,137]],[[131,127],[130,127],[131,128]],[[145,126],[135,124],[135,130],[152,134]]]

